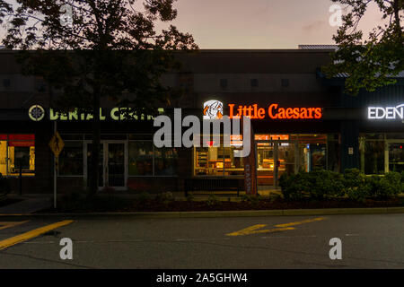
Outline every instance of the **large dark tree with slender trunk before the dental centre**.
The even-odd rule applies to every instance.
[[[130,106],[135,114],[155,111],[171,98],[160,79],[178,67],[172,52],[198,48],[173,25],[157,31],[156,22],[176,18],[175,1],[142,0],[141,9],[135,0],[17,0],[16,7],[0,0],[3,43],[22,51],[24,73],[40,75],[61,91],[62,111],[92,112],[90,195],[100,177],[101,98]]]

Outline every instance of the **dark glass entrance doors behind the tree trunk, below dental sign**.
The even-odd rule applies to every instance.
[[[85,176],[87,186],[90,182],[92,169],[92,143],[84,145],[87,154],[85,161]],[[114,187],[124,189],[127,183],[127,144],[124,141],[101,141],[99,163],[99,187]]]

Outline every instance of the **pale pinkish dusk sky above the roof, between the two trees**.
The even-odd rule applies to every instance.
[[[333,44],[330,0],[178,0],[173,22],[191,33],[199,48],[297,48]],[[378,9],[366,13],[361,28],[380,23]],[[1,34],[0,34],[1,36]]]

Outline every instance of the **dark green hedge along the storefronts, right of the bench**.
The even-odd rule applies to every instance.
[[[365,198],[387,199],[404,192],[404,172],[388,172],[384,176],[365,176],[360,170],[345,170],[345,174],[330,170],[313,170],[283,174],[279,186],[285,199],[326,199],[347,196],[356,201]]]

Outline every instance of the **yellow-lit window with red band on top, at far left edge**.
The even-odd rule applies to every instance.
[[[0,135],[0,173],[35,175],[35,135]]]

